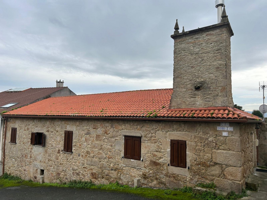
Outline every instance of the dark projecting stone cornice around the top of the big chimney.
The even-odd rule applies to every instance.
[[[223,28],[223,27],[227,28],[227,30],[230,33],[230,36],[234,35],[230,23],[225,22],[225,23],[219,23],[219,24],[214,24],[214,25],[210,25],[210,26],[205,26],[202,28],[193,29],[191,31],[185,31],[184,33],[173,34],[173,35],[171,35],[171,38],[177,39],[177,38],[181,38],[181,37],[185,37],[185,36],[196,35],[199,33],[204,33],[204,32],[208,32],[208,31],[215,30],[218,28]]]

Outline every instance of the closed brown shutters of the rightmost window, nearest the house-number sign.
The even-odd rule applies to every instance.
[[[186,168],[186,141],[171,140],[171,166]]]

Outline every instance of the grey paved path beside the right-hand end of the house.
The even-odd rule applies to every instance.
[[[258,191],[252,192],[247,191],[248,197],[243,197],[243,199],[258,200],[267,199],[267,172],[254,172],[254,175],[258,176]]]

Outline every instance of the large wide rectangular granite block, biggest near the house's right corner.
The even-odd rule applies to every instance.
[[[212,150],[212,161],[218,164],[231,165],[241,167],[242,165],[241,152]]]

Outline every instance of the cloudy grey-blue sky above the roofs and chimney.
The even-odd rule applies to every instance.
[[[252,111],[267,81],[267,1],[225,5],[233,100]],[[216,24],[214,0],[0,0],[0,91],[56,79],[76,94],[172,88],[176,19],[185,31]]]

